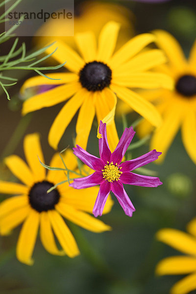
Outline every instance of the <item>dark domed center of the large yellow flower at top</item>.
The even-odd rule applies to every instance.
[[[112,78],[111,69],[104,63],[93,61],[86,63],[79,73],[82,87],[88,91],[101,91],[110,85]]]

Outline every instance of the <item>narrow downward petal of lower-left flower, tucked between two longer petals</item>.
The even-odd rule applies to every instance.
[[[51,254],[64,255],[63,250],[59,250],[56,246],[48,212],[42,212],[40,215],[40,239],[44,248]]]

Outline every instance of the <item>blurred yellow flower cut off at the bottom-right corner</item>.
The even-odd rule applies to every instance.
[[[156,274],[189,274],[171,289],[171,294],[187,294],[196,290],[196,218],[188,223],[190,234],[175,229],[161,229],[156,237],[159,241],[187,254],[167,257],[156,267]]]

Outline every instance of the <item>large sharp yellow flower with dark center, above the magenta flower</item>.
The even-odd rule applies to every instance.
[[[72,97],[62,108],[49,131],[49,144],[57,148],[58,143],[76,111],[80,108],[76,123],[76,144],[86,148],[88,136],[96,114],[98,123],[114,113],[116,95],[144,116],[150,123],[158,126],[161,116],[155,107],[128,88],[154,89],[172,88],[172,80],[163,73],[151,73],[148,70],[163,64],[165,55],[159,49],[139,53],[155,40],[152,34],[142,34],[128,41],[113,54],[120,25],[107,23],[100,32],[98,49],[93,32],[78,33],[75,41],[81,56],[66,44],[58,41],[53,57],[58,62],[67,60],[65,67],[72,73],[52,73],[51,80],[36,76],[25,81],[26,88],[43,84],[59,85],[45,93],[27,99],[23,104],[23,114],[43,107],[49,107]],[[48,53],[53,51],[47,50]],[[113,151],[119,141],[114,119],[108,125],[108,141]]]

